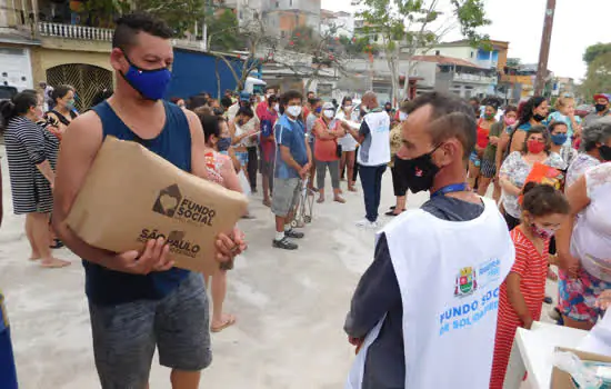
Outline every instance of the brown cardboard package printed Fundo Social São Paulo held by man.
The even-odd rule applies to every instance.
[[[142,146],[107,137],[68,216],[86,242],[124,252],[164,237],[176,266],[211,271],[216,237],[246,213],[238,192],[180,170]]]

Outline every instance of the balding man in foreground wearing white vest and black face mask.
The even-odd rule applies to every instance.
[[[378,235],[345,320],[360,349],[345,388],[488,388],[499,287],[513,265],[513,243],[494,202],[465,183],[473,109],[433,92],[415,99],[409,113],[405,180],[431,199]]]

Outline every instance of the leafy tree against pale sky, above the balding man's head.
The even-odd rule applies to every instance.
[[[487,41],[478,33],[490,24],[483,11],[484,0],[451,0],[451,12],[444,12],[440,0],[360,0],[364,10],[363,32],[381,40],[381,49],[391,73],[392,97],[399,100],[399,61],[407,60],[405,78],[414,67],[411,59],[420,51],[438,43],[448,32],[460,26],[461,33],[472,44]],[[404,83],[403,96],[408,94]]]

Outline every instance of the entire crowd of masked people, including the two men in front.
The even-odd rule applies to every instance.
[[[247,249],[239,228],[219,235],[219,269],[199,275],[173,268],[162,238],[123,253],[82,241],[66,219],[107,136],[140,141],[229,190],[256,193],[260,182],[276,221],[271,246],[283,250],[304,238],[294,222],[302,193],[328,200],[328,172],[338,205],[347,202],[341,182],[355,192],[360,178],[364,218],[357,226],[382,227],[390,167],[395,205],[384,213],[392,219],[378,232],[344,325],[358,353],[348,388],[502,388],[517,328],[541,318],[552,265],[560,278],[552,316],[584,330],[597,322],[600,297],[611,290],[609,94],[594,96],[595,111],[583,120],[570,97],[553,112],[542,97],[513,107],[432,92],[394,110],[374,92],[338,106],[276,87],[263,97],[226,91],[166,101],[171,36],[146,13],[119,19],[116,90],[80,116],[70,86],[44,83],[0,102],[13,211],[26,215],[30,259],[66,267],[52,255],[63,245],[83,259],[103,388],[147,387],[156,348],[173,388],[197,388],[211,362],[209,329],[237,321],[223,301],[228,270]],[[430,199],[407,211],[408,191]],[[17,388],[4,320],[0,357],[2,377],[12,379],[6,387]]]

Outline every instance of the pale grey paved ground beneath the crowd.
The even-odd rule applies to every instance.
[[[0,151],[3,154],[3,150]],[[23,218],[12,215],[8,169],[2,158],[4,221],[0,230],[0,287],[7,296],[21,387],[98,388],[93,366],[83,270],[43,270],[28,261]],[[330,192],[330,190],[329,190]],[[427,196],[413,196],[418,207]],[[214,361],[201,388],[335,389],[353,357],[342,331],[359,276],[371,261],[373,231],[354,227],[362,217],[360,193],[345,205],[317,205],[314,221],[297,252],[273,250],[273,220],[259,197],[256,220],[242,222],[250,249],[229,276],[227,310],[237,326],[212,335]],[[390,173],[382,207],[393,201]],[[169,371],[157,360],[151,389],[169,388]]]

